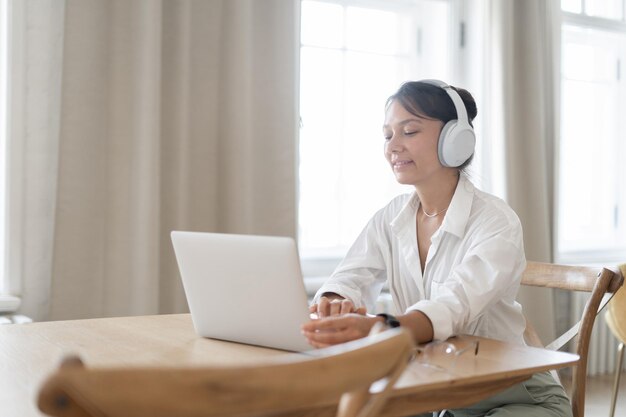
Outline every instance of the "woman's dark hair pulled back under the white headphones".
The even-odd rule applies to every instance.
[[[451,86],[452,87],[452,86]],[[452,87],[463,100],[469,124],[478,114],[476,102],[469,91],[462,88]],[[457,119],[456,107],[448,93],[441,87],[427,84],[421,81],[407,81],[400,86],[398,91],[387,99],[385,108],[389,108],[392,102],[397,101],[409,113],[427,119],[440,120],[445,125],[450,120]],[[474,159],[474,155],[458,167],[459,171],[466,168]]]

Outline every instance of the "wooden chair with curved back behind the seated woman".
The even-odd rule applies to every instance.
[[[574,417],[583,417],[585,413],[587,356],[596,315],[608,302],[610,295],[614,294],[622,286],[623,282],[624,277],[620,272],[614,272],[606,268],[566,266],[540,262],[528,262],[522,276],[522,285],[591,293],[580,322],[546,346],[548,349],[559,350],[573,337],[577,336],[575,353],[580,356],[580,361],[573,369],[569,393]],[[530,346],[543,346],[528,320],[526,321],[524,338]]]

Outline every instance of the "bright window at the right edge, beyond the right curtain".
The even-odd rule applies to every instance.
[[[563,0],[562,9],[557,257],[619,260],[626,250],[624,1]]]

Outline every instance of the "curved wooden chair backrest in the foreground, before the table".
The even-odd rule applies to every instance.
[[[257,366],[88,368],[75,358],[47,379],[38,405],[59,417],[210,417],[271,416],[339,401],[338,416],[366,417],[383,406],[412,352],[410,333],[393,329]]]

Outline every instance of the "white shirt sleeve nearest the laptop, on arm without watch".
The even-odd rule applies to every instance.
[[[322,294],[333,292],[351,300],[356,307],[374,311],[386,281],[385,252],[388,248],[384,214],[377,213],[365,226],[345,258],[313,298],[317,303]]]

